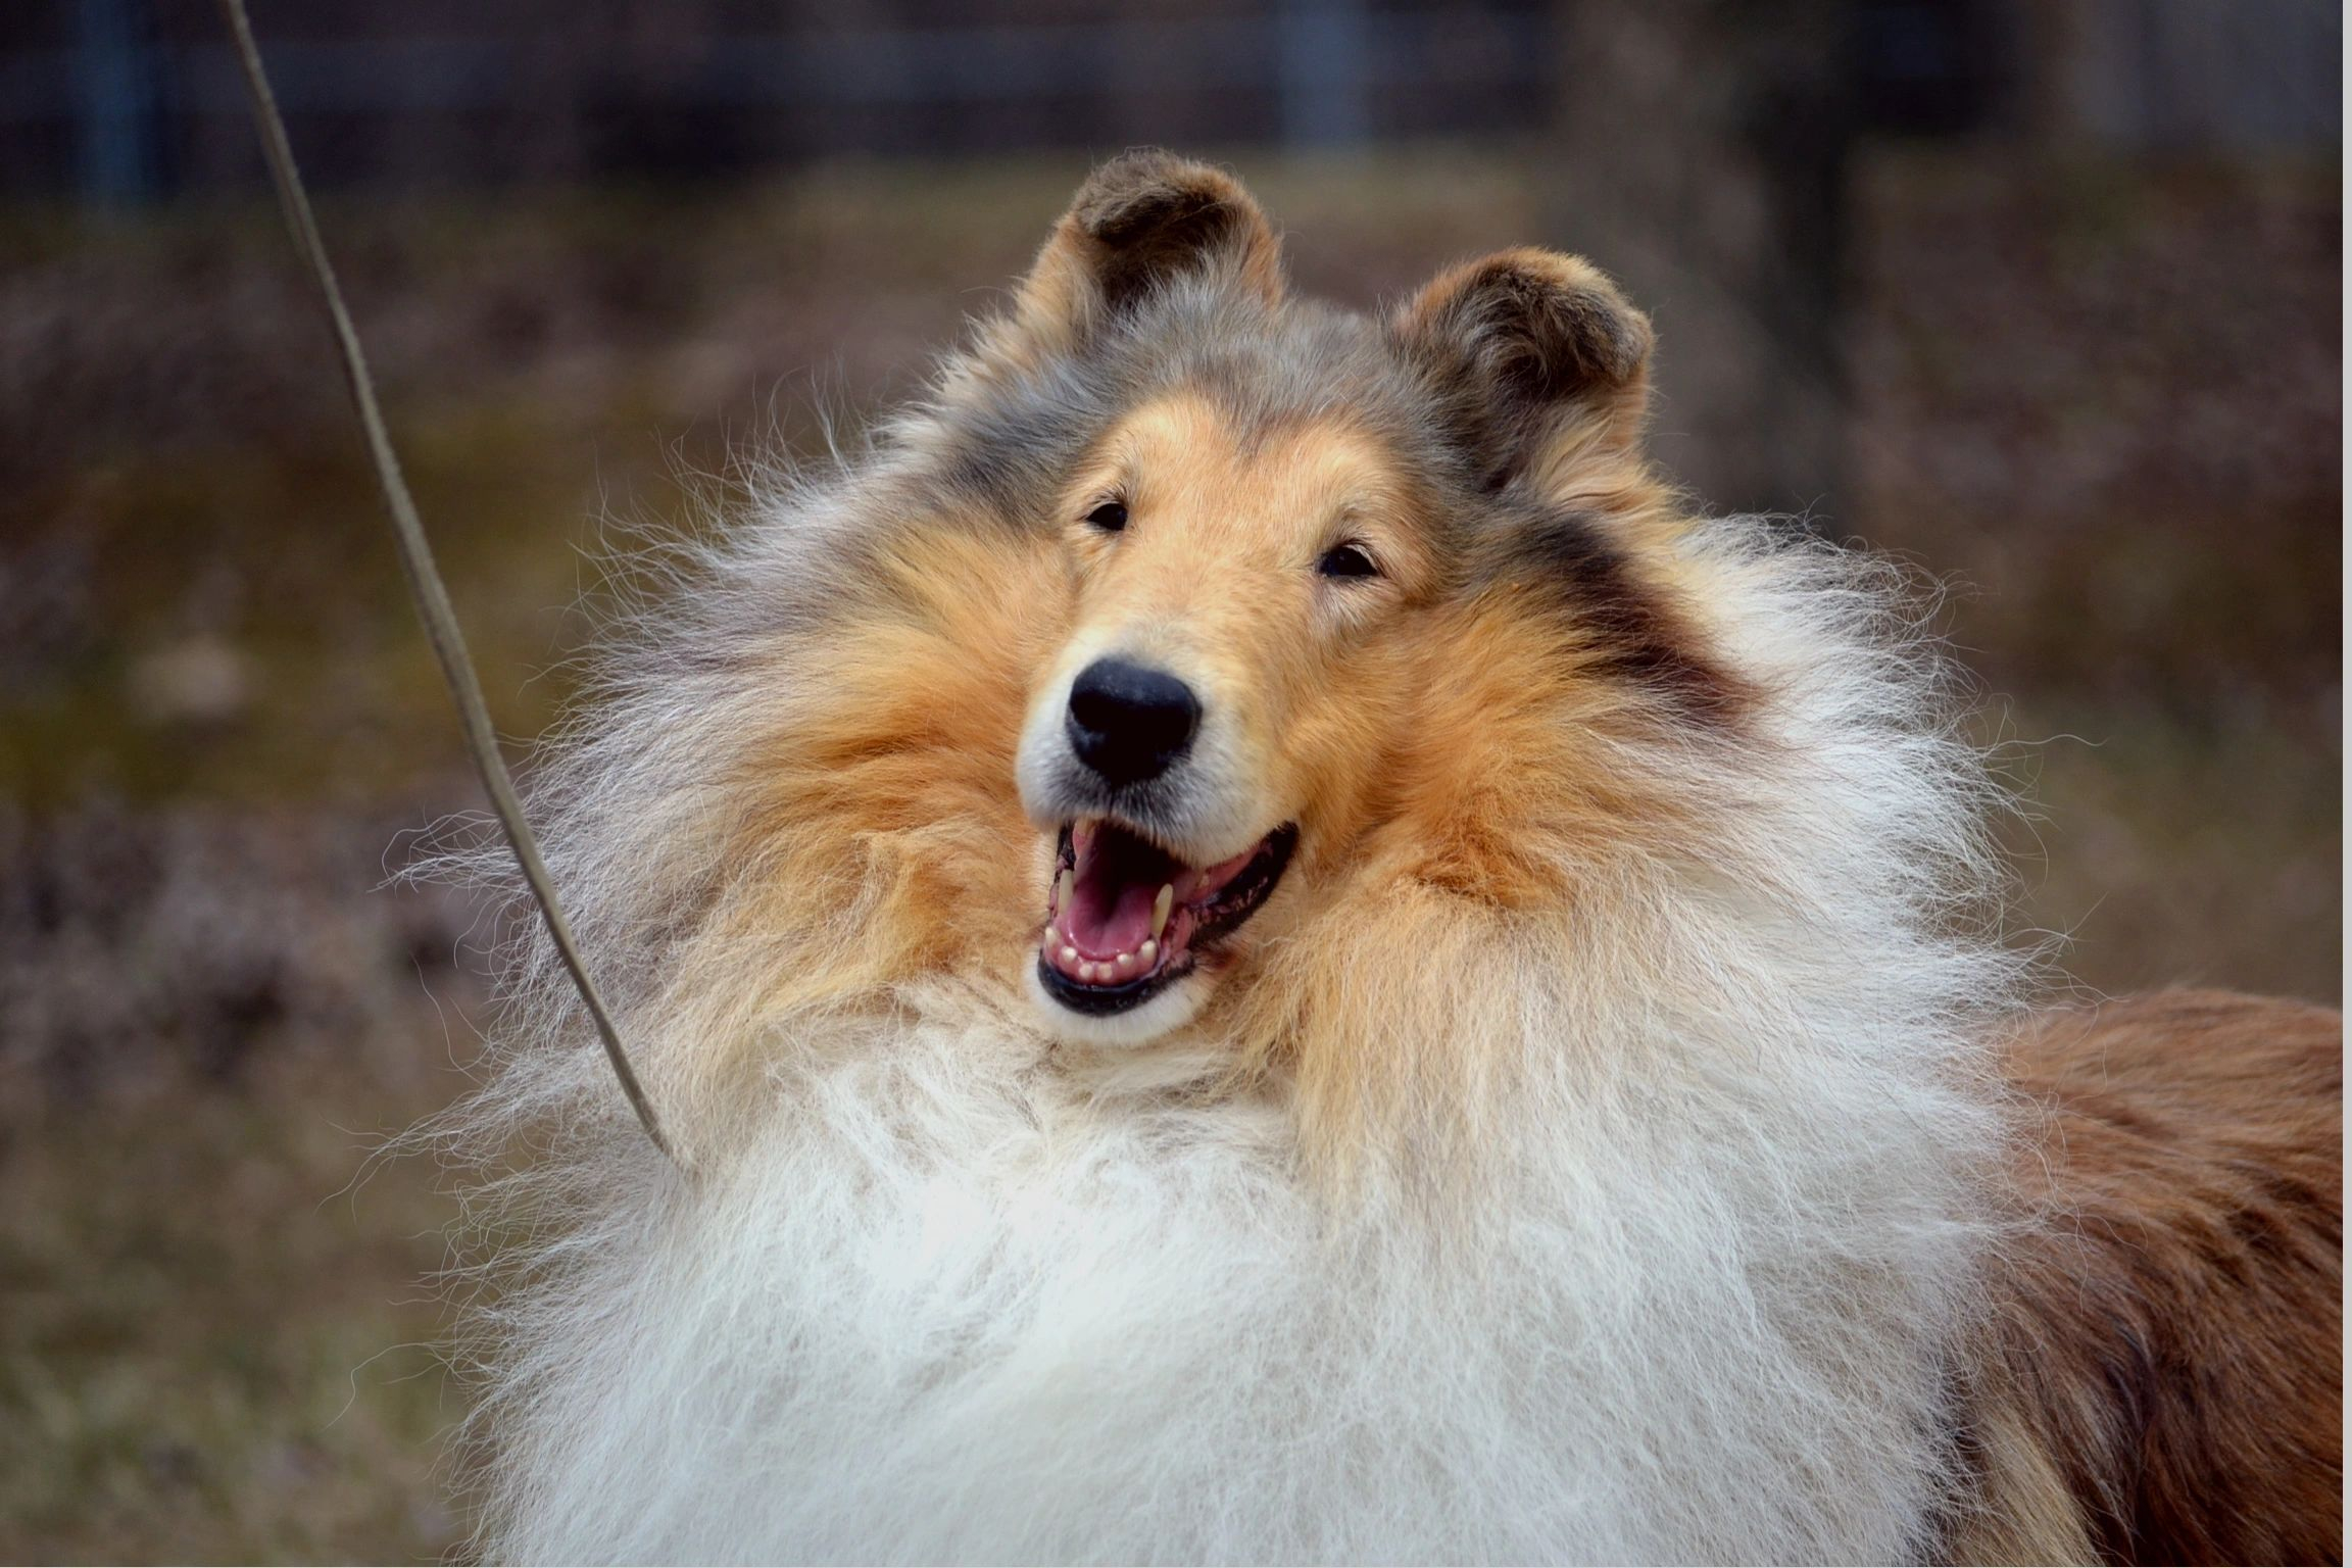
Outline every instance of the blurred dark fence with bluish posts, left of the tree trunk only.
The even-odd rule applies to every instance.
[[[47,9],[45,38],[0,42],[0,181],[122,202],[252,179],[235,61],[205,26],[209,5]],[[894,7],[748,16],[628,2],[510,5],[496,16],[369,0],[256,12],[306,165],[327,183],[691,176],[842,153],[1145,139],[1348,146],[1491,134],[1541,125],[1555,75],[1550,16],[1526,0],[1094,16],[993,5],[934,24]]]

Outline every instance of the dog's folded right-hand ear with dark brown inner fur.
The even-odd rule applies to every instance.
[[[1439,273],[1390,320],[1484,477],[1625,454],[1649,409],[1649,317],[1581,256],[1496,252]]]

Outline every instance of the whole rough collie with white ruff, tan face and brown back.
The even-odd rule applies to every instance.
[[[1649,348],[1129,155],[623,628],[539,806],[684,1168],[517,954],[482,1552],[2336,1554],[2336,1016],[2030,1016],[1900,578]]]

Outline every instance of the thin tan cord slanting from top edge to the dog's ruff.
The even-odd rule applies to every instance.
[[[499,736],[489,724],[489,708],[482,705],[482,684],[475,679],[473,661],[466,656],[466,637],[459,632],[456,614],[449,609],[449,592],[433,567],[433,548],[426,543],[423,524],[416,520],[416,503],[400,477],[400,458],[393,456],[393,437],[386,435],[383,414],[376,409],[376,386],[367,374],[367,355],[360,353],[360,334],[350,324],[350,310],[343,308],[343,289],[334,282],[334,266],[327,263],[327,247],[318,237],[318,221],[310,216],[310,197],[303,195],[301,174],[294,172],[294,148],[287,143],[285,120],[278,118],[278,99],[270,94],[270,82],[261,73],[261,52],[254,47],[254,28],[245,16],[245,0],[221,0],[221,16],[228,21],[228,33],[238,45],[238,61],[245,66],[245,87],[254,99],[254,127],[261,132],[261,153],[268,158],[270,179],[278,183],[278,205],[285,209],[287,228],[294,230],[294,249],[303,254],[303,261],[310,263],[310,273],[318,277],[318,289],[327,301],[327,320],[334,324],[334,341],[343,350],[343,383],[350,386],[350,402],[358,407],[360,425],[367,430],[367,454],[376,461],[383,505],[393,512],[393,534],[400,541],[400,569],[409,578],[416,616],[423,621],[426,639],[433,644],[433,656],[449,682],[449,696],[456,698],[456,712],[466,726],[466,750],[473,752],[473,766],[482,776],[482,788],[489,790],[489,804],[499,811],[499,823],[506,825],[506,842],[515,849],[515,863],[522,867],[522,879],[529,884],[532,898],[539,900],[539,912],[548,922],[548,936],[555,938],[555,952],[562,954],[564,969],[572,971],[572,985],[579,987],[581,1001],[588,1004],[588,1016],[595,1020],[595,1032],[604,1039],[604,1056],[612,1058],[612,1072],[621,1079],[621,1093],[628,1095],[630,1110],[637,1112],[637,1121],[644,1124],[644,1135],[654,1140],[654,1147],[668,1154],[673,1164],[682,1164],[670,1140],[661,1135],[654,1105],[644,1098],[644,1088],[628,1065],[628,1051],[621,1048],[621,1032],[614,1027],[612,1013],[604,1011],[604,997],[597,994],[595,980],[588,978],[588,964],[572,940],[572,926],[564,922],[562,905],[555,903],[555,884],[539,858],[539,842],[532,837],[532,825],[515,799],[515,780],[508,778],[506,759],[499,755]]]

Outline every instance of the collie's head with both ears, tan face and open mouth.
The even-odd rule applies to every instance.
[[[1080,190],[948,386],[960,477],[1070,585],[1018,741],[1056,842],[1035,985],[1061,1034],[1183,1025],[1362,886],[1383,825],[1421,811],[1411,853],[1444,858],[1461,823],[1428,809],[1477,792],[1477,731],[1512,724],[1498,682],[1712,701],[1628,564],[1661,494],[1649,346],[1573,256],[1486,256],[1362,317],[1287,296],[1216,169],[1138,153]],[[1508,632],[1529,618],[1548,630]]]

